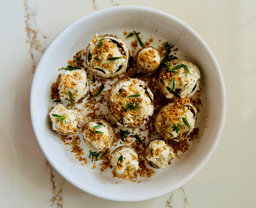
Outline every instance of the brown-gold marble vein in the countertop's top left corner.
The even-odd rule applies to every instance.
[[[42,46],[42,43],[38,39],[39,30],[37,29],[36,22],[35,22],[36,13],[28,11],[27,0],[24,0],[24,11],[25,11],[24,29],[28,37],[28,40],[26,41],[26,43],[29,43],[29,55],[32,59],[32,63],[33,63],[32,72],[34,73],[36,69],[36,61],[34,58],[34,55],[35,55],[34,53],[35,51],[39,51],[40,53],[43,53],[46,48]],[[42,35],[42,37],[45,39],[47,38],[46,35]]]

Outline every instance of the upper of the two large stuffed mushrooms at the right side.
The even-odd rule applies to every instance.
[[[158,83],[166,98],[173,99],[175,95],[181,98],[192,97],[199,89],[200,71],[195,64],[175,59],[169,62],[169,69],[162,68]]]

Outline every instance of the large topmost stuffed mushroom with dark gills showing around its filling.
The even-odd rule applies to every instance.
[[[95,35],[87,46],[86,64],[94,74],[106,79],[120,76],[128,59],[128,47],[116,35]]]

